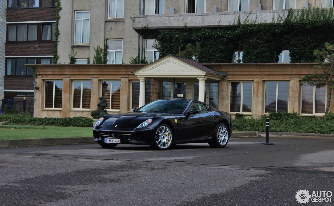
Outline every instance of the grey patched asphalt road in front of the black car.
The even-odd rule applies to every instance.
[[[300,205],[301,189],[334,193],[333,138],[263,142],[0,148],[0,205]]]

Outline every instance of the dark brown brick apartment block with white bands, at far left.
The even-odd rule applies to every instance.
[[[26,64],[51,64],[55,27],[55,0],[8,0],[4,30],[5,99],[34,98],[33,72]],[[7,104],[7,103],[6,103]]]

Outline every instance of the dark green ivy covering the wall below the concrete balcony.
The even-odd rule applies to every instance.
[[[334,43],[334,10],[309,8],[295,13],[290,9],[287,17],[279,16],[271,22],[258,23],[246,18],[228,27],[188,28],[157,31],[144,26],[137,31],[144,38],[154,38],[160,57],[177,54],[186,45],[199,42],[202,63],[230,63],[234,51],[243,50],[244,63],[272,63],[282,50],[289,50],[291,62],[314,62],[314,49],[325,42]]]

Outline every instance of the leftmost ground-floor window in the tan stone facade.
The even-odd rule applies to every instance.
[[[45,108],[61,108],[62,105],[62,81],[45,81]]]

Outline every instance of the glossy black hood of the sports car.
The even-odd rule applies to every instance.
[[[135,129],[141,123],[148,119],[154,119],[157,116],[166,116],[165,113],[130,113],[120,115],[105,115],[100,128],[108,129]],[[168,116],[168,115],[167,115]]]

